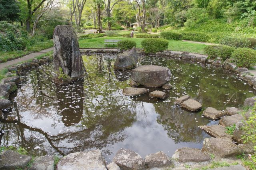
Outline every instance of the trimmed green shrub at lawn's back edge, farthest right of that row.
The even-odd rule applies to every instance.
[[[210,36],[202,32],[182,32],[182,40],[208,42],[210,40]]]

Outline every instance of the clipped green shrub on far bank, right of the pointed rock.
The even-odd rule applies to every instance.
[[[146,53],[156,53],[168,48],[168,41],[162,38],[147,38],[141,42]]]

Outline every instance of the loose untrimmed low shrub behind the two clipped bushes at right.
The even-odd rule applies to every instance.
[[[250,47],[251,42],[246,38],[225,37],[220,40],[220,44],[242,48],[242,47]]]

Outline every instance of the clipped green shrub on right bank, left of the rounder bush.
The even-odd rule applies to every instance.
[[[204,52],[209,58],[220,57],[223,60],[230,58],[235,47],[230,47],[228,45],[208,45],[204,48]]]

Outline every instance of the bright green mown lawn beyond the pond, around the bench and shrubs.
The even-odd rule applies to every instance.
[[[79,46],[80,48],[111,48],[117,47],[116,45],[105,45],[104,40],[133,40],[137,43],[137,48],[142,48],[141,42],[144,38],[125,38],[125,37],[100,37],[100,38],[88,38],[88,39],[80,39]],[[204,47],[207,45],[197,44],[197,43],[189,43],[182,42],[176,40],[168,40],[169,45],[168,49],[172,51],[188,51],[191,53],[200,53],[204,54]]]

